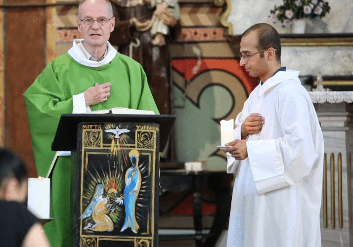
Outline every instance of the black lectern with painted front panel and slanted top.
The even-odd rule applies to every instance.
[[[158,247],[159,152],[176,116],[63,114],[53,151],[72,151],[73,247]]]

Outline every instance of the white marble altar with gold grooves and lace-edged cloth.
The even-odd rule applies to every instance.
[[[324,137],[322,247],[353,246],[353,91],[309,92]]]

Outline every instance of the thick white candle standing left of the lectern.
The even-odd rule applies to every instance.
[[[38,218],[50,218],[50,178],[28,178],[27,206]]]

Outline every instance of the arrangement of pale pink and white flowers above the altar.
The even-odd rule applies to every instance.
[[[324,17],[330,11],[330,5],[325,0],[284,0],[283,5],[271,9],[271,18],[273,23],[282,22],[283,27],[290,27],[294,19],[305,17],[315,18]]]

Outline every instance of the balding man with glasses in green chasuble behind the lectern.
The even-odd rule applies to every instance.
[[[69,51],[48,64],[24,93],[33,151],[40,176],[54,157],[50,146],[63,113],[126,107],[159,114],[141,65],[108,42],[115,26],[108,0],[79,5],[78,30]],[[61,153],[60,155],[65,155]],[[53,247],[71,247],[70,158],[59,157],[52,174],[52,217],[44,225]]]

